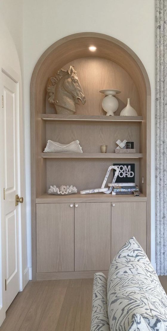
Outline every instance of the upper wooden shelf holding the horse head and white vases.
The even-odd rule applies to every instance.
[[[142,116],[92,116],[92,115],[57,115],[57,114],[41,114],[41,118],[45,121],[57,122],[126,122],[138,123],[143,121]]]

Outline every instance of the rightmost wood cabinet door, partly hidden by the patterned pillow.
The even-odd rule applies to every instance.
[[[111,260],[130,237],[146,252],[146,202],[111,204]]]

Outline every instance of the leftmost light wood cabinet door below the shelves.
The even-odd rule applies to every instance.
[[[74,271],[74,207],[37,204],[37,272]]]

